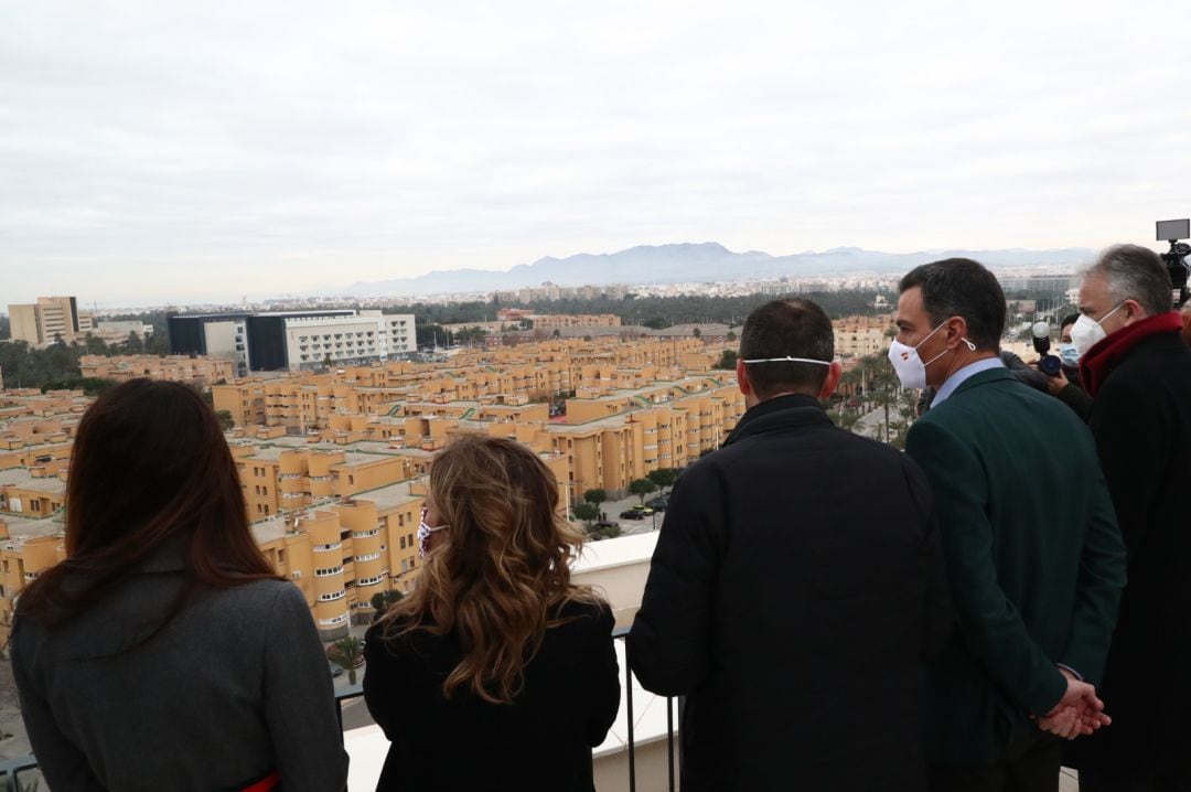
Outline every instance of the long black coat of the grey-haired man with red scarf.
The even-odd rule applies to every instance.
[[[1100,696],[1112,725],[1072,748],[1079,766],[1154,767],[1191,747],[1191,349],[1137,343],[1092,406],[1092,434],[1129,559]]]

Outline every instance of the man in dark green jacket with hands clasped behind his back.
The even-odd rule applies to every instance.
[[[906,453],[935,493],[960,628],[924,669],[930,785],[1054,792],[1054,735],[1109,722],[1092,686],[1124,586],[1112,501],[1087,428],[998,358],[996,277],[948,260],[899,288],[890,361],[937,388]]]

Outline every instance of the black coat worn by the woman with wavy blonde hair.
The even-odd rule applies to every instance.
[[[612,611],[570,603],[572,622],[547,630],[512,704],[464,687],[443,698],[461,651],[454,635],[418,631],[386,642],[368,630],[364,700],[392,746],[379,791],[592,792],[592,747],[621,703]]]

